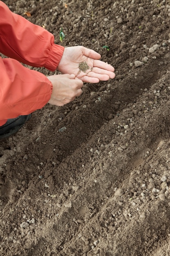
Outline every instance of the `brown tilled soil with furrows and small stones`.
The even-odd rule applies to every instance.
[[[170,1],[4,2],[116,78],[0,144],[0,255],[170,255]]]

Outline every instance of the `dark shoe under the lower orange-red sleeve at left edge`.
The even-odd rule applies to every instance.
[[[31,114],[8,119],[4,125],[0,126],[0,139],[14,135],[30,118]]]

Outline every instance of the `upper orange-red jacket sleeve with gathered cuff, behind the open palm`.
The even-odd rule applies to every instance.
[[[34,67],[56,70],[64,47],[54,44],[54,36],[9,10],[0,1],[0,52]]]

